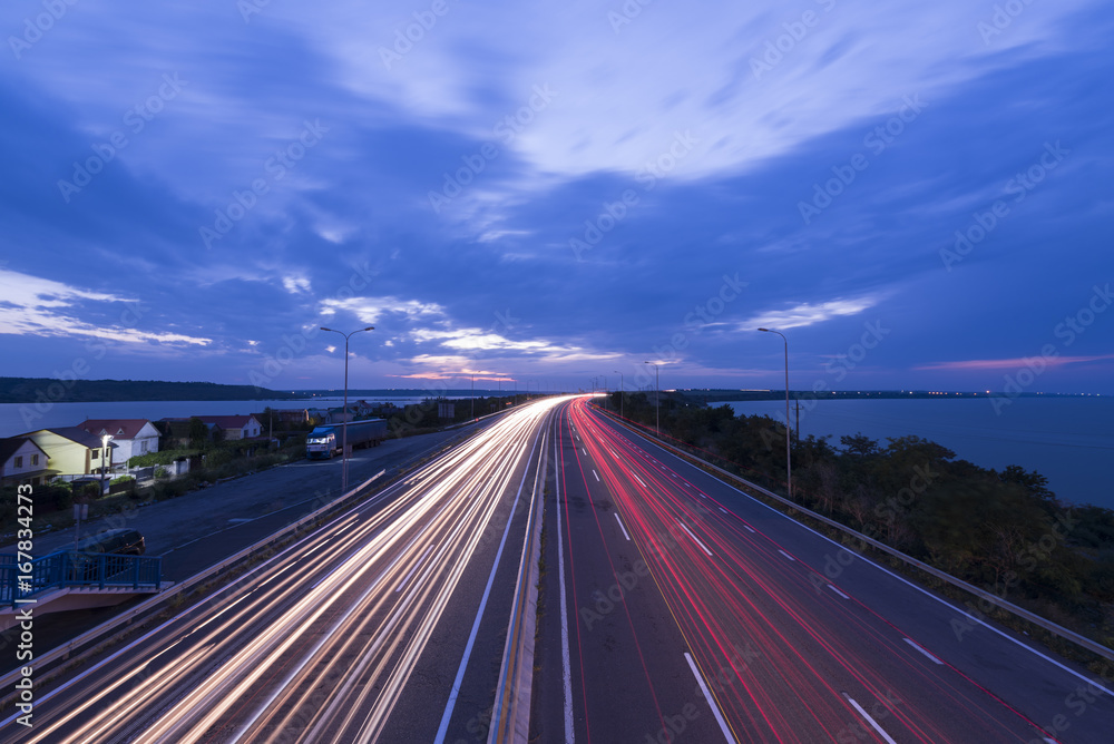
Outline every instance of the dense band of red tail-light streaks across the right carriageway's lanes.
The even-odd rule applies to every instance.
[[[722,493],[695,487],[583,404],[573,419],[696,664],[726,672],[712,675],[722,682],[712,692],[739,741],[1051,736],[843,588],[818,591],[793,547],[725,513]]]

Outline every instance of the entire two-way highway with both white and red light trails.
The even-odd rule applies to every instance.
[[[487,741],[535,498],[531,741],[1111,741],[1101,681],[849,557],[587,397],[506,413],[37,688],[33,726],[13,715],[0,736]]]

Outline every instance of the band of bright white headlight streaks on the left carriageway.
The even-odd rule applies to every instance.
[[[377,511],[356,507],[39,698],[21,741],[374,741],[560,402],[507,413]]]

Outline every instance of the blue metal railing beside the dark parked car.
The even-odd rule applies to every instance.
[[[14,606],[17,599],[57,587],[158,591],[162,581],[163,559],[152,556],[59,550],[20,565],[17,556],[0,555],[0,605]]]

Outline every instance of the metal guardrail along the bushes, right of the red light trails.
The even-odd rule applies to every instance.
[[[979,587],[974,586],[971,584],[968,584],[967,581],[964,581],[962,579],[956,578],[955,576],[951,576],[950,574],[946,574],[945,571],[941,571],[940,569],[938,569],[938,568],[936,568],[934,566],[929,566],[928,564],[926,564],[926,562],[924,562],[921,560],[917,560],[912,556],[907,556],[906,554],[901,552],[900,550],[898,550],[896,548],[891,548],[890,546],[886,545],[885,542],[880,542],[880,541],[878,541],[878,540],[876,540],[873,538],[867,537],[862,532],[853,530],[850,527],[848,527],[847,525],[841,525],[840,522],[838,522],[838,521],[836,521],[833,519],[829,519],[828,517],[824,517],[823,515],[819,515],[815,511],[812,511],[811,509],[807,509],[805,507],[801,506],[800,503],[797,503],[795,501],[790,501],[785,497],[778,496],[776,493],[773,493],[772,491],[769,491],[769,490],[762,488],[761,486],[758,486],[756,483],[750,482],[745,478],[740,478],[739,476],[736,476],[736,474],[734,474],[732,472],[729,472],[729,471],[724,470],[723,468],[720,468],[717,466],[712,464],[711,462],[709,462],[707,460],[704,460],[703,458],[696,457],[695,454],[693,454],[691,452],[686,452],[685,450],[676,447],[675,444],[671,444],[671,443],[664,441],[663,439],[654,435],[654,433],[652,431],[649,431],[648,427],[646,428],[645,431],[641,431],[639,429],[635,429],[634,427],[631,425],[633,422],[631,422],[631,421],[628,421],[626,419],[620,419],[613,411],[604,411],[604,412],[607,413],[618,424],[620,424],[620,425],[629,429],[633,433],[638,434],[639,437],[646,438],[648,440],[652,440],[655,444],[657,444],[662,449],[668,450],[668,451],[673,452],[674,454],[676,454],[677,457],[681,457],[684,460],[688,460],[693,464],[698,464],[698,467],[710,468],[711,470],[716,471],[716,473],[719,473],[720,476],[723,476],[724,478],[729,478],[731,480],[734,480],[737,483],[743,484],[746,488],[750,488],[750,489],[753,489],[755,491],[759,491],[760,493],[762,493],[766,498],[773,499],[773,500],[775,500],[775,501],[778,501],[778,502],[780,502],[780,503],[782,503],[782,505],[784,505],[784,506],[786,506],[786,507],[789,507],[791,509],[794,509],[794,510],[797,510],[797,511],[799,511],[799,512],[801,512],[803,515],[808,515],[812,519],[821,521],[824,525],[828,525],[829,527],[833,527],[834,529],[838,529],[841,532],[850,535],[852,538],[854,538],[857,540],[861,540],[862,542],[871,546],[872,548],[876,548],[878,550],[881,550],[882,552],[887,552],[887,554],[893,556],[895,558],[897,558],[898,560],[905,562],[908,566],[912,566],[912,567],[915,567],[915,568],[917,568],[917,569],[919,569],[919,570],[926,572],[926,574],[929,574],[930,576],[935,576],[936,578],[938,578],[941,581],[945,581],[947,584],[950,584],[951,586],[956,587],[957,589],[961,589],[961,590],[964,590],[964,591],[966,591],[968,594],[971,594],[971,595],[978,597],[979,599],[988,601],[991,605],[994,605],[994,606],[996,606],[996,607],[998,607],[1000,609],[1004,609],[1007,613],[1010,613],[1010,614],[1013,614],[1013,615],[1015,615],[1015,616],[1017,616],[1017,617],[1019,617],[1019,618],[1022,618],[1022,619],[1024,619],[1024,620],[1026,620],[1028,623],[1032,623],[1033,625],[1035,625],[1035,626],[1037,626],[1039,628],[1044,628],[1045,630],[1047,630],[1048,633],[1051,633],[1051,634],[1053,634],[1055,636],[1059,636],[1061,638],[1063,638],[1065,640],[1074,643],[1076,646],[1081,646],[1083,648],[1086,648],[1087,650],[1092,652],[1093,654],[1097,654],[1098,656],[1102,656],[1103,658],[1105,658],[1107,660],[1114,662],[1114,649],[1111,649],[1110,647],[1104,646],[1103,644],[1101,644],[1101,643],[1098,643],[1096,640],[1093,640],[1091,638],[1087,638],[1086,636],[1079,635],[1078,633],[1075,633],[1074,630],[1065,628],[1062,625],[1057,625],[1056,623],[1053,623],[1052,620],[1047,620],[1047,619],[1040,617],[1039,615],[1025,609],[1024,607],[1018,607],[1017,605],[1015,605],[1012,601],[1006,601],[1005,599],[1003,599],[1001,597],[999,597],[998,595],[996,595],[996,594],[994,594],[991,591],[987,591],[986,589],[980,589]],[[636,424],[636,425],[638,425],[641,428],[641,424]],[[792,517],[790,517],[790,519],[792,519]],[[846,548],[847,546],[841,546],[841,547]]]

